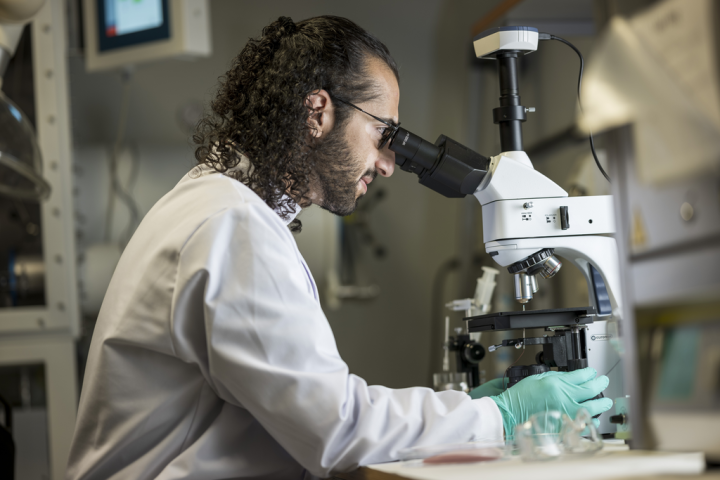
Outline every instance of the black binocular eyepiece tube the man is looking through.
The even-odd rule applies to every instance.
[[[398,127],[388,148],[401,170],[416,174],[422,185],[449,198],[472,195],[487,173],[490,161],[441,135],[435,144]]]

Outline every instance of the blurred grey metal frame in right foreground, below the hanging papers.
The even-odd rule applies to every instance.
[[[652,372],[658,361],[655,356],[659,353],[652,344],[640,345],[641,341],[650,340],[641,339],[638,335],[636,310],[649,306],[664,309],[682,306],[686,310],[693,305],[715,308],[720,291],[720,246],[715,221],[717,207],[713,201],[698,202],[698,211],[704,215],[701,218],[707,228],[701,230],[699,227],[702,225],[695,225],[694,230],[685,229],[684,236],[678,235],[674,231],[682,227],[676,195],[678,185],[683,190],[694,188],[702,192],[705,180],[699,178],[684,184],[678,181],[665,184],[662,188],[648,187],[637,181],[633,174],[635,153],[632,129],[631,125],[626,125],[603,134],[613,178],[621,285],[625,295],[622,314],[623,366],[626,392],[630,395],[631,446],[639,449],[698,449],[716,460],[720,458],[717,435],[720,413],[703,411],[699,414],[692,406],[677,411],[653,408],[649,397],[654,383]],[[713,197],[710,195],[707,198]],[[641,213],[650,211],[653,214],[650,219],[654,223],[648,222],[649,227],[662,223],[672,235],[662,236],[664,232],[658,229],[653,232],[659,239],[655,245],[642,252],[633,252],[633,215],[639,203],[646,209]],[[671,323],[666,324],[669,325]]]

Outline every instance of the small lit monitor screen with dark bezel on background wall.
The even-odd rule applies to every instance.
[[[168,0],[97,0],[101,52],[170,38]]]

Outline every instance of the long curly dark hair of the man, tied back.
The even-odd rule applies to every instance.
[[[251,39],[220,77],[212,111],[200,120],[195,158],[248,185],[281,216],[309,202],[315,142],[306,99],[326,90],[362,103],[379,95],[368,60],[383,61],[399,79],[387,47],[352,21],[321,16],[298,22],[280,17]],[[334,102],[336,127],[351,107]],[[243,154],[252,168],[234,169]],[[287,196],[286,196],[287,194]],[[289,198],[288,198],[289,197]],[[300,230],[300,222],[290,227]]]

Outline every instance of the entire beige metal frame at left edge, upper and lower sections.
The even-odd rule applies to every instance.
[[[77,412],[76,278],[65,2],[49,0],[32,22],[37,137],[51,187],[41,204],[45,305],[0,309],[0,364],[45,365],[51,478],[65,477]]]

